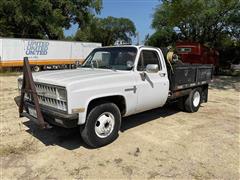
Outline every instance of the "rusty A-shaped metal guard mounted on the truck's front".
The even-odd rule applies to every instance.
[[[23,113],[24,109],[24,95],[25,93],[31,94],[33,98],[33,103],[35,105],[35,110],[37,113],[37,122],[41,128],[47,128],[48,123],[46,123],[43,119],[42,112],[40,110],[38,96],[35,84],[33,82],[31,67],[29,65],[28,57],[24,57],[23,59],[23,83],[21,88],[21,99],[20,99],[20,106],[19,106],[19,114]]]

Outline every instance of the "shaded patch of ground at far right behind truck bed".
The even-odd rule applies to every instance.
[[[210,89],[240,91],[240,76],[216,76],[210,84]]]

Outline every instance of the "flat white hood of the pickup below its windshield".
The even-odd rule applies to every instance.
[[[74,70],[59,70],[59,71],[44,71],[33,73],[35,82],[54,84],[59,86],[70,86],[80,82],[89,83],[106,79],[113,76],[129,73],[127,71],[115,71],[111,69],[91,69],[91,68],[78,68]]]

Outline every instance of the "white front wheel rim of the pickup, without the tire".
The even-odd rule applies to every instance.
[[[115,124],[115,118],[112,113],[110,112],[104,112],[101,114],[96,123],[95,123],[95,133],[100,138],[105,138],[109,136],[113,129]]]

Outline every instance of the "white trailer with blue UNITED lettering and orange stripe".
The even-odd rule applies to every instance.
[[[36,68],[82,62],[101,43],[0,38],[0,68],[21,67],[28,57]],[[36,69],[37,70],[37,69]]]

